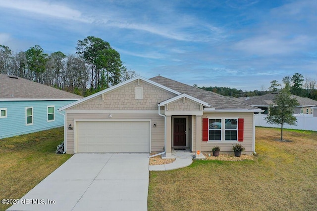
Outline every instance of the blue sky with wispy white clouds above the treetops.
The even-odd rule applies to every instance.
[[[143,77],[242,90],[317,79],[317,0],[0,0],[0,44],[75,54],[110,43]]]

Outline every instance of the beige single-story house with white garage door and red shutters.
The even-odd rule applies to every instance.
[[[65,111],[65,151],[255,152],[254,114],[261,109],[161,76],[141,76],[59,109]]]

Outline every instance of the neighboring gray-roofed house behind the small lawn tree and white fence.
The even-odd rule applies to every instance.
[[[261,108],[262,110],[264,110],[263,114],[267,114],[270,104],[274,105],[273,100],[276,94],[278,94],[278,91],[261,96],[239,97],[238,99],[240,99],[241,102],[246,105]],[[317,106],[316,100],[308,97],[300,97],[294,94],[292,94],[291,96],[293,98],[296,98],[299,102],[299,106],[296,106],[296,108],[294,108],[294,114],[313,114],[312,107]]]

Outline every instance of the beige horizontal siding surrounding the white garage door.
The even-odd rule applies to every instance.
[[[93,113],[67,113],[67,126],[70,124],[74,127],[74,130],[67,130],[67,153],[74,153],[74,141],[76,125],[74,120],[76,119],[89,119],[89,120],[109,120],[109,114],[93,114]],[[164,147],[164,118],[158,114],[112,114],[113,119],[151,119],[151,151],[163,151]],[[156,123],[156,127],[153,124]]]

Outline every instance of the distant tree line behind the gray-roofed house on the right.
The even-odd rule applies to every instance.
[[[270,87],[268,90],[264,90],[264,86],[261,87],[261,90],[254,91],[243,91],[241,89],[230,88],[230,87],[218,87],[218,86],[209,86],[209,87],[199,87],[208,91],[213,91],[215,93],[224,95],[224,96],[233,96],[233,97],[247,97],[247,96],[260,96],[267,93],[280,91],[282,87],[289,87],[291,94],[298,95],[301,97],[309,97],[311,99],[317,100],[317,89],[316,89],[316,80],[304,77],[300,73],[295,73],[293,76],[285,76],[282,79],[282,84],[277,80],[270,82]],[[197,87],[196,84],[194,84]]]

